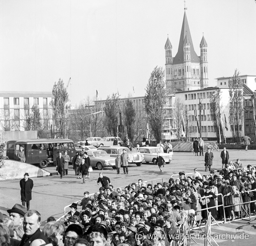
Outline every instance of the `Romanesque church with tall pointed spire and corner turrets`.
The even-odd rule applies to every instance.
[[[167,37],[164,49],[166,90],[169,93],[208,87],[207,43],[203,35],[200,43],[200,56],[197,56],[188,27],[186,10],[176,56],[172,56],[172,44],[169,37]]]

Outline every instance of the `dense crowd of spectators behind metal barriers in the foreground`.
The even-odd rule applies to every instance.
[[[196,168],[189,177],[180,171],[179,178],[154,186],[139,179],[116,192],[100,173],[99,193],[89,197],[85,191],[70,206],[64,223],[49,217],[41,231],[40,213],[26,209],[24,202],[0,214],[0,246],[179,245],[183,230],[204,225],[208,212],[212,221],[224,214],[235,220],[255,213],[255,202],[240,203],[256,200],[256,167],[243,167],[239,159],[233,164],[238,169],[230,164],[207,175]]]

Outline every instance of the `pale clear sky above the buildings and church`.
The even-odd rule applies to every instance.
[[[209,85],[256,75],[254,0],[187,0],[197,55],[203,33]],[[0,0],[1,91],[52,91],[59,78],[72,104],[88,96],[144,96],[154,67],[165,68],[167,35],[178,51],[183,0]]]

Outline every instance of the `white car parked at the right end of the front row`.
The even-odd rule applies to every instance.
[[[172,160],[172,155],[162,152],[162,150],[158,147],[140,147],[139,151],[144,155],[144,160],[146,163],[153,162],[156,164],[157,153],[164,158],[164,162],[169,164]]]

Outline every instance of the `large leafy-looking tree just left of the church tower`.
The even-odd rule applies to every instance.
[[[166,103],[166,90],[164,82],[164,69],[155,67],[148,80],[146,95],[144,97],[145,110],[149,116],[149,124],[156,141],[162,138],[162,130],[165,121],[164,105]]]

